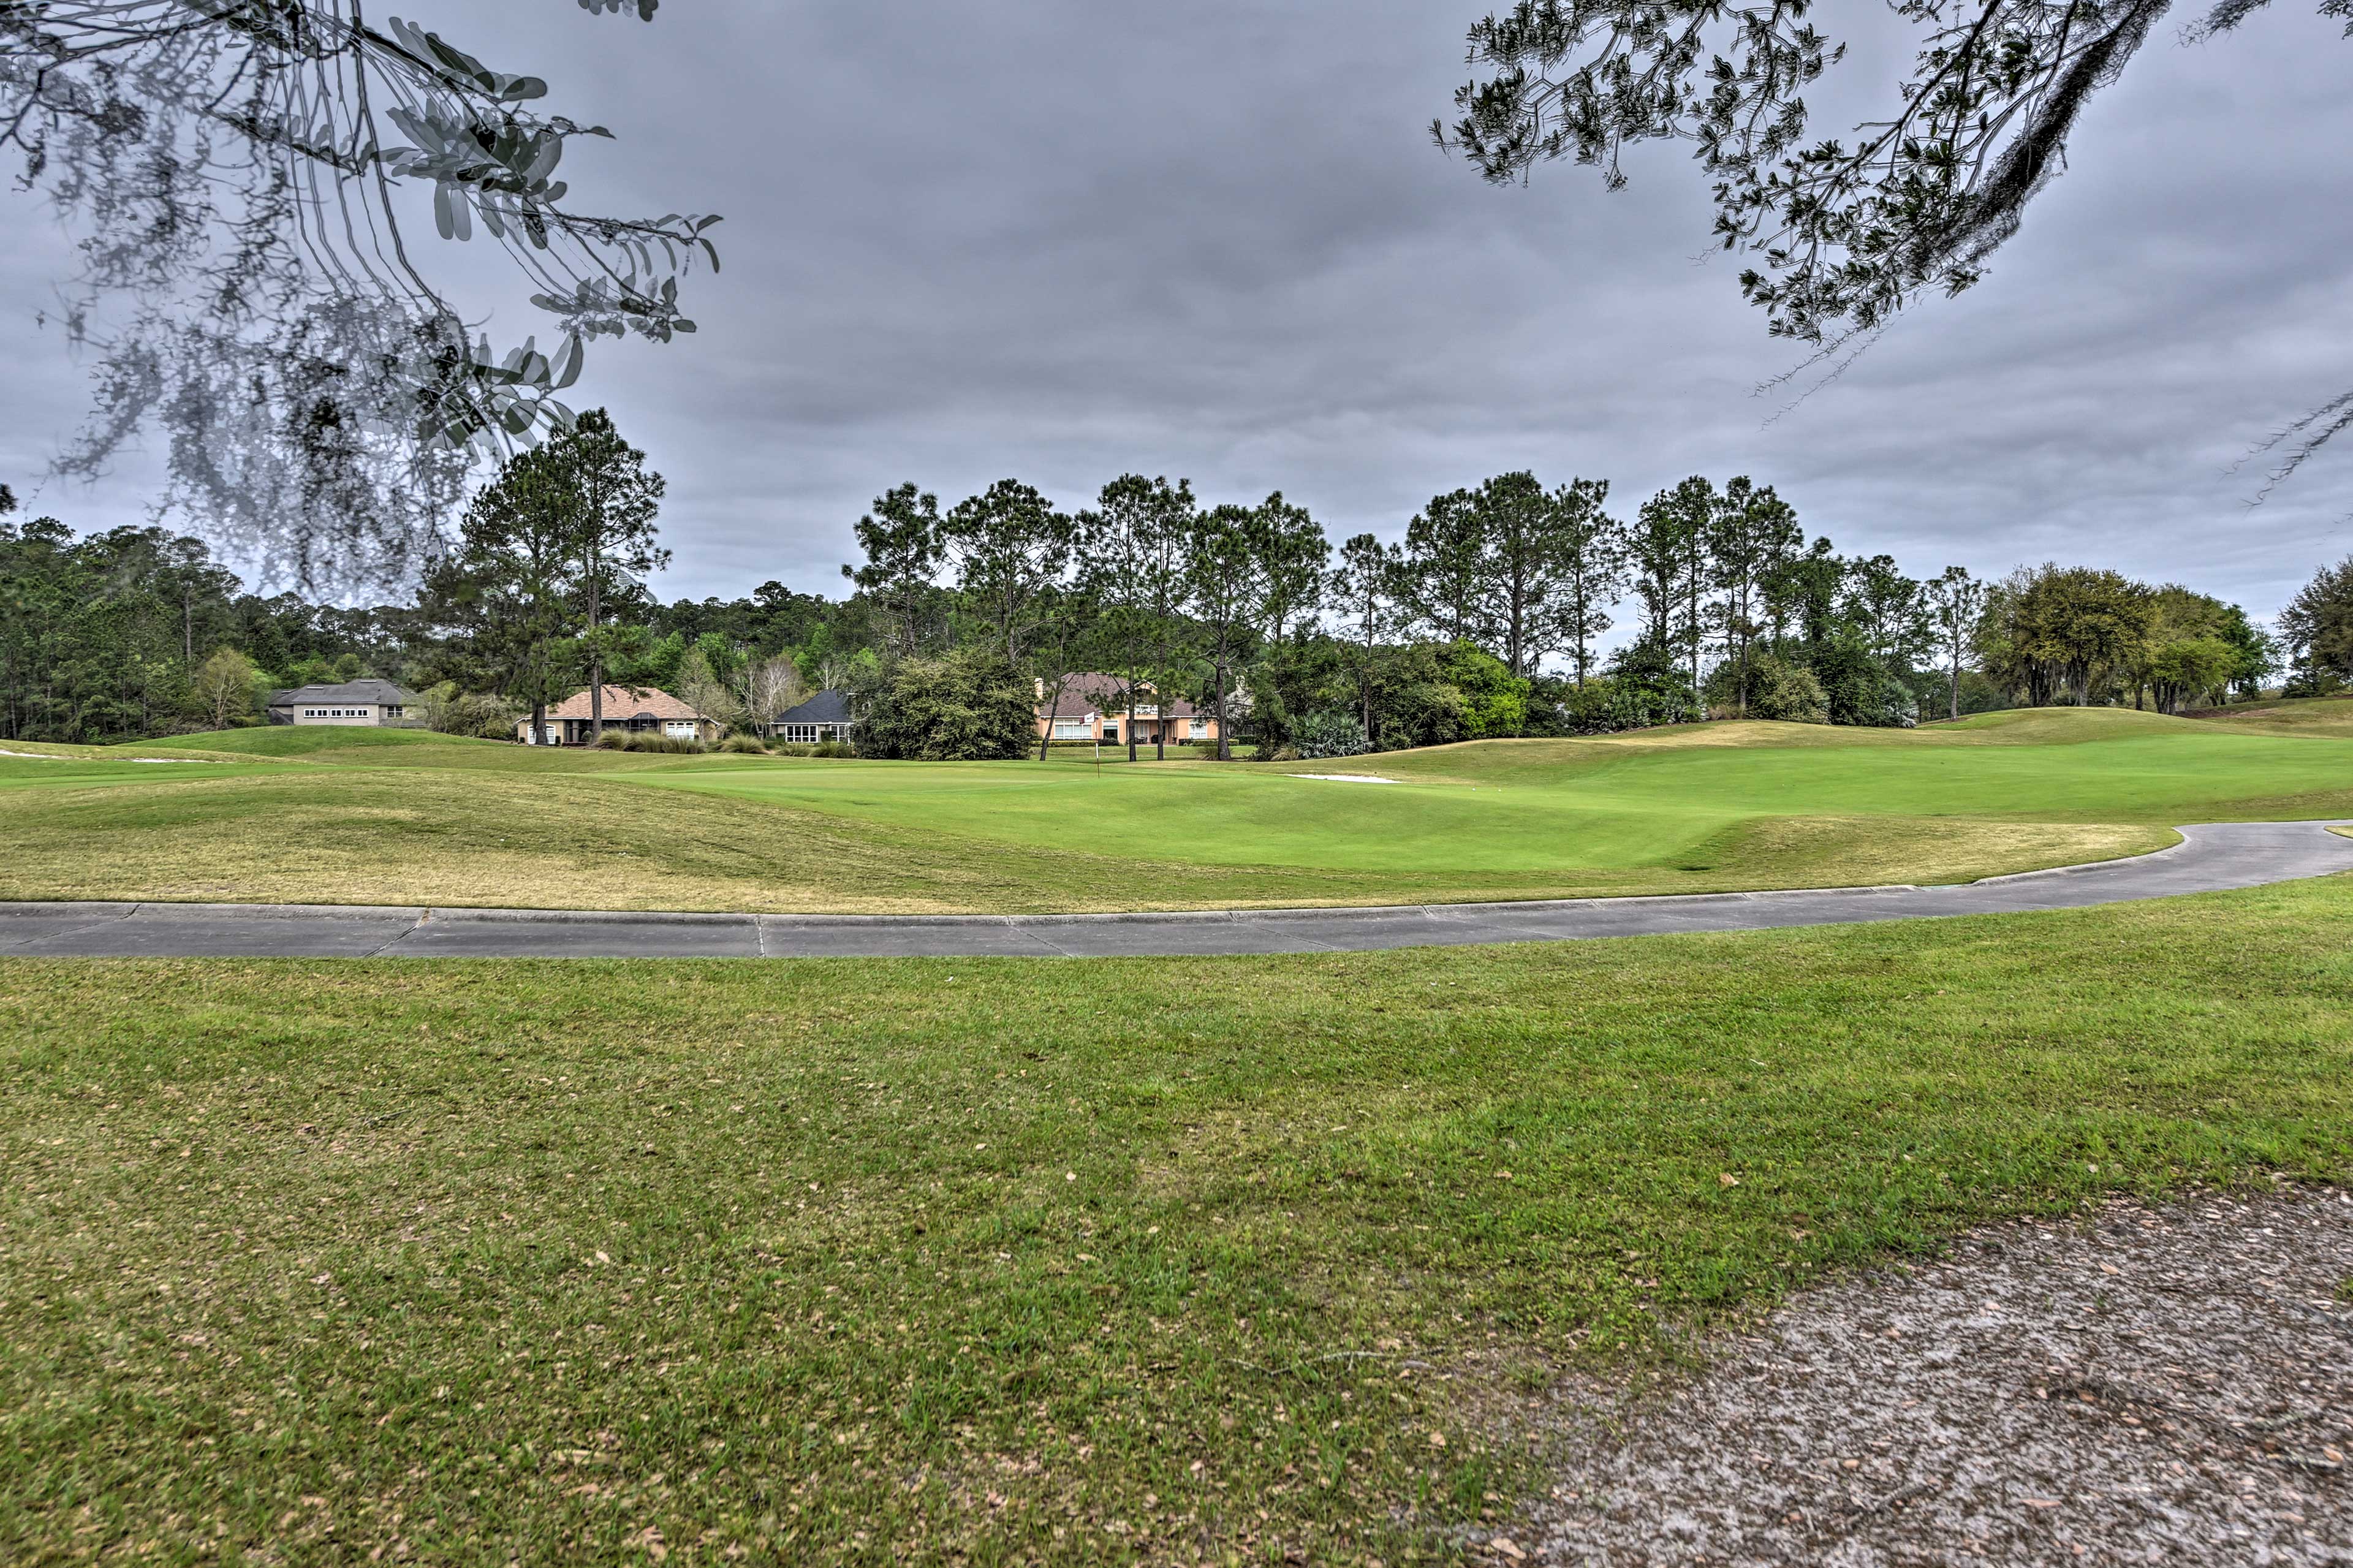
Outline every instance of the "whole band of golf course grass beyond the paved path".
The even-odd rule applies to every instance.
[[[899,913],[1459,902],[1955,883],[2249,817],[2353,817],[2353,732],[2045,709],[1918,732],[1718,723],[1096,768],[275,727],[111,758],[0,756],[0,897]]]

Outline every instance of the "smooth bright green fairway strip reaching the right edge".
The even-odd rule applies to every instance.
[[[1297,777],[1339,768],[1395,782]],[[812,763],[642,782],[1200,864],[1527,873],[1720,859],[1729,836],[1767,817],[2169,826],[2325,815],[2304,803],[2353,786],[2353,739],[2075,711],[1920,732],[1704,725],[1273,768]]]

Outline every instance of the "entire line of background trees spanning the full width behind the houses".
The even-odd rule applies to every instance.
[[[506,735],[605,683],[765,725],[847,690],[875,756],[1014,756],[1038,695],[1111,678],[1186,699],[1217,749],[1304,756],[1715,716],[1911,725],[2019,704],[2158,711],[2353,680],[2353,563],[2280,636],[2238,605],[2104,567],[1906,574],[1807,537],[1748,478],[1612,509],[1607,480],[1515,471],[1339,544],[1280,492],[1205,501],[1125,473],[1085,506],[913,483],[854,525],[847,593],[767,582],[661,605],[664,480],[600,410],[499,469],[414,603],[259,598],[195,539],[0,518],[0,725],[118,739],[249,723],[271,687],[376,673],[440,727]],[[1612,636],[1614,633],[1614,636]],[[600,697],[591,699],[593,706]],[[1139,753],[1136,725],[1122,742]],[[1167,739],[1160,739],[1165,751]]]

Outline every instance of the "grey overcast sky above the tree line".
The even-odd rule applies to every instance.
[[[671,596],[769,577],[840,593],[849,525],[915,480],[1016,476],[1080,504],[1122,471],[1282,490],[1339,539],[1402,532],[1506,469],[1612,483],[1748,473],[1845,551],[2115,565],[2271,614],[2353,551],[2353,440],[2261,509],[2252,443],[2353,384],[2353,42],[2308,7],[2160,33],[2075,134],[1993,273],[1927,301],[1772,419],[1791,367],[1706,254],[1687,148],[1602,191],[1489,188],[1428,141],[1478,0],[569,0],[412,16],[609,125],[576,193],[722,212],[699,337],[600,344],[605,403],[668,476]],[[1814,127],[1897,59],[1880,7]],[[54,325],[66,245],[0,191],[0,480],[75,527],[144,520],[153,471],[40,469],[82,412]],[[426,231],[421,245],[433,252]],[[452,247],[442,247],[452,250]],[[461,257],[461,266],[478,264]],[[539,323],[485,294],[501,344]]]

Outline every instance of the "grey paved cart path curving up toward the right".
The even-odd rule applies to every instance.
[[[1809,888],[1520,904],[1101,916],[753,916],[369,904],[0,904],[0,956],[52,958],[965,958],[1332,954],[2017,913],[2353,871],[2322,822],[2181,829],[2155,855],[1955,888]]]

